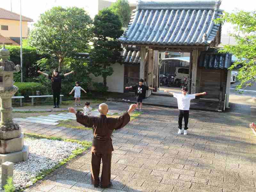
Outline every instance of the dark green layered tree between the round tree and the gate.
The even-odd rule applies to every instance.
[[[103,87],[107,87],[107,76],[113,74],[112,64],[122,62],[121,44],[117,40],[123,33],[118,16],[108,9],[96,15],[93,22],[93,49],[90,52],[92,73],[103,77]]]

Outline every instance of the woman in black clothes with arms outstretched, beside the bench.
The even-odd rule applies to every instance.
[[[74,73],[74,71],[71,71],[70,73],[65,73],[64,75],[61,75],[58,73],[58,70],[53,70],[52,75],[48,75],[47,73],[41,72],[38,70],[38,73],[41,73],[48,77],[48,79],[51,79],[52,81],[52,94],[53,94],[53,108],[59,108],[59,101],[60,101],[60,94],[61,94],[61,79],[64,79],[65,76],[68,76],[71,73]],[[57,103],[56,103],[57,99]]]

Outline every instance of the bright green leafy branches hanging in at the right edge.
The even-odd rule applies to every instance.
[[[251,86],[256,82],[256,12],[237,11],[226,13],[216,20],[218,23],[232,23],[236,26],[236,45],[224,45],[221,52],[231,52],[238,60],[230,67],[233,69],[242,64],[239,69],[238,79],[240,84],[237,90],[242,87]]]

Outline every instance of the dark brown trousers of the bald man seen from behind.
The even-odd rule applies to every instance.
[[[111,177],[111,157],[112,154],[101,154],[92,152],[91,161],[91,181],[93,185],[101,184],[102,187],[108,187]],[[102,159],[102,175],[99,182],[100,162]]]

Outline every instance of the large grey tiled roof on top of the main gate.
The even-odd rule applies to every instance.
[[[123,44],[207,45],[220,29],[219,0],[143,2],[131,16]]]

